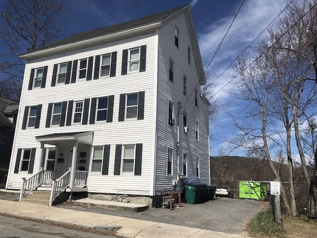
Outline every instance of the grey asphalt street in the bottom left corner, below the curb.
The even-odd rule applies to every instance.
[[[0,216],[0,238],[115,238]]]

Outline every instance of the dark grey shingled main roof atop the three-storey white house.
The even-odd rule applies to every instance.
[[[151,23],[160,22],[160,21],[164,20],[164,18],[168,17],[169,15],[171,15],[175,12],[180,11],[182,8],[184,8],[188,5],[189,4],[182,5],[182,6],[170,9],[170,10],[155,13],[155,14],[150,15],[150,16],[141,17],[141,18],[138,18],[138,19],[135,19],[132,21],[123,22],[123,23],[119,23],[119,24],[115,24],[115,25],[111,25],[111,26],[98,28],[98,29],[91,30],[91,31],[86,31],[86,32],[74,34],[74,35],[65,37],[63,39],[60,39],[58,41],[55,41],[55,42],[48,44],[46,46],[37,48],[37,49],[29,51],[29,52],[26,52],[24,54],[29,54],[29,53],[49,49],[49,48],[54,48],[57,46],[76,43],[76,42],[80,42],[83,40],[89,40],[89,39],[93,39],[96,37],[105,36],[108,34],[113,34],[116,32],[125,31],[125,30],[136,28],[136,27],[149,25]],[[21,55],[24,55],[24,54],[21,54]]]

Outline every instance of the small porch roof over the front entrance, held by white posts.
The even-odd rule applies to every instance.
[[[78,142],[83,144],[93,144],[94,131],[80,131],[68,133],[53,133],[48,135],[35,136],[36,141],[45,144],[56,145],[62,142]]]

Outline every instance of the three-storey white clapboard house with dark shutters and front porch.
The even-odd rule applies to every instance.
[[[26,60],[7,189],[156,198],[210,182],[190,5],[75,34]],[[53,187],[53,188],[52,188]]]

